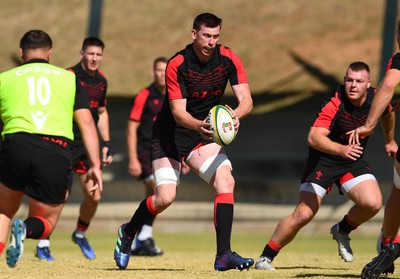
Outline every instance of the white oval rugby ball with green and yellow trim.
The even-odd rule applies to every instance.
[[[208,121],[211,124],[210,129],[213,132],[214,142],[221,146],[227,146],[235,139],[235,126],[232,114],[227,107],[217,105],[210,109]]]

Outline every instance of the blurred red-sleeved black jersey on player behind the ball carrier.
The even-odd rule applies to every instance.
[[[151,135],[157,114],[161,110],[165,94],[157,90],[154,82],[143,88],[133,99],[129,119],[140,122],[138,149],[151,150]]]

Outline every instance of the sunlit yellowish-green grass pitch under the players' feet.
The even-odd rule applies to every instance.
[[[353,263],[343,262],[337,255],[337,245],[328,234],[299,235],[274,260],[276,271],[250,269],[239,272],[213,270],[215,239],[213,233],[158,233],[157,244],[165,250],[161,257],[131,258],[126,270],[118,270],[113,260],[116,241],[114,233],[92,232],[90,242],[97,258],[86,260],[70,240],[70,234],[55,232],[52,238],[52,263],[39,262],[34,257],[36,241],[25,241],[20,264],[10,269],[5,256],[1,258],[0,278],[360,278],[362,267],[376,255],[373,236],[354,235]],[[266,236],[234,234],[233,249],[246,257],[258,258]],[[400,278],[394,274],[388,278]]]

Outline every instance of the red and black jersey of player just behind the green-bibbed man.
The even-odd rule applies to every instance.
[[[99,121],[98,109],[99,107],[104,107],[107,105],[107,79],[104,73],[98,70],[96,71],[94,77],[92,77],[82,68],[81,63],[68,68],[68,70],[75,73],[82,87],[85,89],[89,100],[90,111],[92,113],[93,120],[97,125],[97,122]],[[75,122],[74,136],[75,139],[81,139],[82,137],[78,125]]]

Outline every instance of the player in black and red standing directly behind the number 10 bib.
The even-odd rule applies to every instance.
[[[110,142],[109,119],[107,112],[107,79],[99,70],[103,59],[104,43],[97,37],[88,37],[83,40],[80,51],[80,62],[69,70],[77,76],[89,99],[90,111],[97,125],[98,133],[103,140],[102,162],[109,165],[113,160],[114,151]],[[82,141],[82,130],[74,122],[73,142],[73,169],[79,177],[82,186],[84,200],[80,205],[79,218],[76,229],[72,234],[72,240],[80,247],[84,256],[94,259],[96,254],[86,239],[85,232],[92,221],[97,206],[101,199],[101,192],[90,191],[93,183],[87,180],[88,158]],[[72,173],[71,173],[72,176]],[[72,177],[71,177],[72,186]],[[36,255],[41,260],[52,261],[53,257],[49,250],[49,239],[42,240],[36,248]]]

